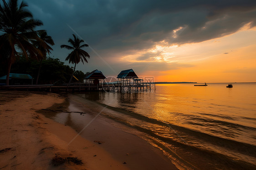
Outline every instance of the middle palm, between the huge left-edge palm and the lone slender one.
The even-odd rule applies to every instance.
[[[37,73],[37,78],[36,78],[36,85],[38,84],[38,79],[39,79],[39,74],[41,70],[41,65],[42,65],[42,60],[46,59],[46,55],[50,55],[52,48],[50,45],[54,45],[54,41],[52,40],[51,36],[47,35],[46,30],[40,30],[37,31],[39,35],[39,40],[32,41],[33,45],[35,45],[42,53],[40,57],[40,66],[38,69]]]

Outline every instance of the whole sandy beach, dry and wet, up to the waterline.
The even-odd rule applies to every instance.
[[[84,128],[81,122],[79,124],[79,120],[84,123],[83,119],[77,117],[78,122],[75,122],[71,121],[72,117],[61,124],[38,113],[41,110],[39,112],[46,112],[46,115],[55,114],[52,105],[55,110],[62,110],[61,104],[67,104],[64,97],[19,91],[0,91],[0,96],[0,170],[176,169],[160,150],[146,141],[123,132],[100,116],[94,120],[93,112],[97,110],[93,106],[71,102],[64,113],[83,116],[87,122],[93,120],[77,135]]]

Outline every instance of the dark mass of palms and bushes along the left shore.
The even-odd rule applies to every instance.
[[[46,30],[35,30],[43,23],[33,19],[27,6],[23,1],[18,4],[18,0],[0,1],[0,76],[7,75],[6,85],[9,85],[10,72],[37,77],[36,84],[63,84],[71,77],[69,85],[73,75],[83,82],[85,74],[75,70],[80,61],[88,63],[86,58],[90,55],[82,50],[88,45],[82,45],[84,41],[75,35],[73,40],[68,40],[72,46],[61,45],[61,48],[72,50],[66,60],[75,64],[73,70],[59,59],[46,57],[54,41]]]

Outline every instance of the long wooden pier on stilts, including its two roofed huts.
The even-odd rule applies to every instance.
[[[69,91],[106,91],[122,93],[151,92],[155,90],[155,84],[151,80],[144,82],[139,78],[133,69],[122,70],[117,78],[110,77],[113,82],[106,82],[105,75],[99,70],[93,70],[85,75],[83,83],[77,82],[70,85],[2,85],[0,90],[29,90],[49,92]],[[32,77],[31,77],[32,79]],[[24,83],[24,81],[22,81]],[[33,81],[31,81],[33,83]]]

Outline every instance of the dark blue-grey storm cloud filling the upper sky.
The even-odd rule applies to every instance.
[[[256,0],[26,2],[34,17],[43,21],[42,28],[55,40],[53,55],[62,59],[69,51],[59,46],[67,44],[73,34],[67,24],[106,60],[149,49],[163,40],[169,45],[201,42],[234,33],[249,22],[256,26]],[[179,27],[183,28],[174,34],[173,30]],[[152,56],[145,54],[138,60],[147,57]]]

